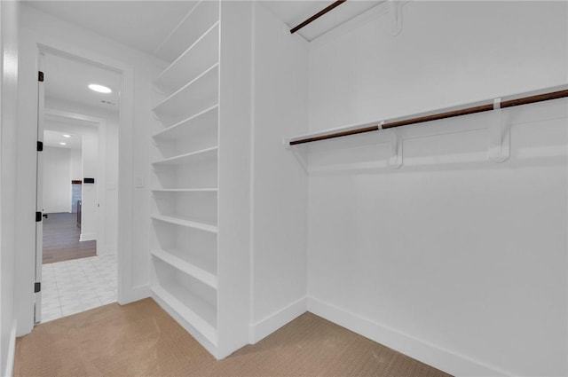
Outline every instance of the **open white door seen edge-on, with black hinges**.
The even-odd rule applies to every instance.
[[[37,164],[36,164],[36,306],[34,320],[36,323],[42,320],[42,264],[43,264],[43,108],[44,108],[44,85],[43,80],[43,53],[40,52],[38,59],[39,72],[37,74]]]

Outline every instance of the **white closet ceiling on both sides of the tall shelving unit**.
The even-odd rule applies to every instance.
[[[205,0],[207,1],[207,0]],[[333,0],[261,0],[288,27],[295,27]],[[85,27],[122,44],[152,54],[197,1],[25,1],[61,20]],[[297,33],[312,41],[319,35],[381,4],[379,0],[349,0]]]

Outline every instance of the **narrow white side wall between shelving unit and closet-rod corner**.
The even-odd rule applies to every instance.
[[[308,43],[256,4],[251,342],[306,310],[307,177],[282,140],[307,132]]]

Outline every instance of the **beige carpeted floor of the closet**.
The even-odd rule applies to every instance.
[[[447,376],[311,313],[217,361],[152,299],[36,326],[15,376]]]

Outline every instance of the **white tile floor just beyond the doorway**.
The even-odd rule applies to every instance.
[[[115,252],[43,264],[42,322],[115,302],[116,271]]]

